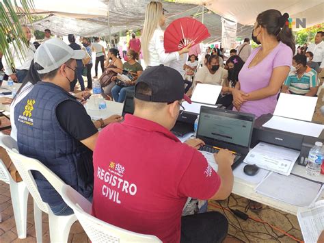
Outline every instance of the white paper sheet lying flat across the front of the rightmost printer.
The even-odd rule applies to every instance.
[[[324,126],[321,124],[304,122],[302,120],[273,116],[263,125],[263,127],[319,138]]]

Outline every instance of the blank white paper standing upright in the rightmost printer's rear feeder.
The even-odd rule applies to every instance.
[[[273,115],[311,121],[316,102],[317,97],[281,93]]]

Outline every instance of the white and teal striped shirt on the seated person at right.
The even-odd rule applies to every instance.
[[[307,94],[310,92],[310,88],[319,86],[319,79],[317,79],[316,71],[307,66],[305,73],[303,73],[300,79],[297,72],[289,73],[284,81],[284,85],[288,86],[288,90],[294,94]]]

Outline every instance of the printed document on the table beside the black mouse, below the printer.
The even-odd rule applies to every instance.
[[[260,168],[278,172],[282,175],[289,175],[299,154],[299,151],[293,149],[259,142],[249,151],[244,162],[256,164]]]

